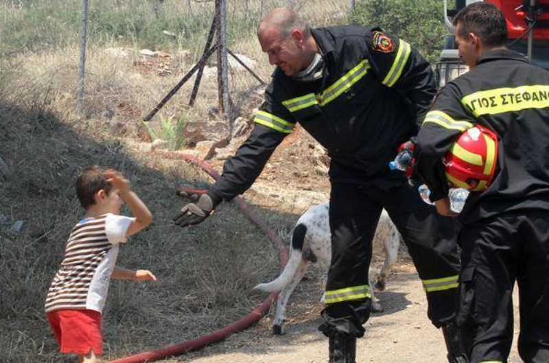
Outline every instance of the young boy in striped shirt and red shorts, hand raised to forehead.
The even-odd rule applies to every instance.
[[[115,266],[119,244],[152,221],[130,183],[115,170],[94,166],[76,180],[76,194],[86,210],[69,235],[65,258],[51,283],[45,311],[61,353],[78,355],[78,362],[101,362],[101,314],[109,279],[156,281],[148,270]],[[119,215],[128,204],[135,218]]]

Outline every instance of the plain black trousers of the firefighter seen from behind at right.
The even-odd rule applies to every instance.
[[[507,362],[513,341],[515,279],[519,354],[549,362],[549,211],[506,213],[463,227],[457,323],[470,338],[471,363]]]

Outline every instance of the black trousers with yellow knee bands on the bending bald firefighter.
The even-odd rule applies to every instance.
[[[458,226],[441,217],[421,200],[414,188],[332,183],[329,222],[332,233],[331,266],[320,331],[326,336],[364,335],[371,295],[368,273],[372,240],[385,208],[401,233],[423,282],[428,316],[436,327],[456,316],[459,258]]]

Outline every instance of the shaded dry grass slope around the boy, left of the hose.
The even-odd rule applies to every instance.
[[[3,362],[61,360],[43,316],[43,300],[69,230],[82,215],[73,178],[90,164],[124,172],[155,218],[124,246],[119,264],[150,268],[159,283],[114,281],[104,312],[107,357],[211,332],[264,298],[250,288],[276,272],[277,253],[235,207],[224,205],[200,228],[170,224],[183,204],[174,196],[175,187],[204,180],[203,174],[183,162],[133,150],[132,142],[119,142],[109,137],[108,128],[98,130],[92,122],[67,124],[55,114],[23,113],[3,102],[1,108],[10,115],[1,119],[8,132],[1,156],[13,173],[0,187]],[[294,216],[278,219],[288,230]],[[25,222],[21,234],[8,231],[15,220]]]

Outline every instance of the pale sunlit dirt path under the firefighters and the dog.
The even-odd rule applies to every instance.
[[[231,336],[220,344],[169,362],[327,362],[327,339],[316,330],[318,312],[322,308],[316,301],[318,287],[315,279],[307,279],[298,285],[290,299],[288,332],[284,336],[272,336],[270,318],[264,318],[256,327]],[[358,362],[447,362],[441,332],[427,319],[423,288],[408,261],[395,269],[387,290],[378,296],[385,311],[373,314],[366,323],[366,335],[358,340]],[[518,312],[515,313],[517,318]],[[521,362],[517,355],[516,338],[517,332],[509,363]]]

